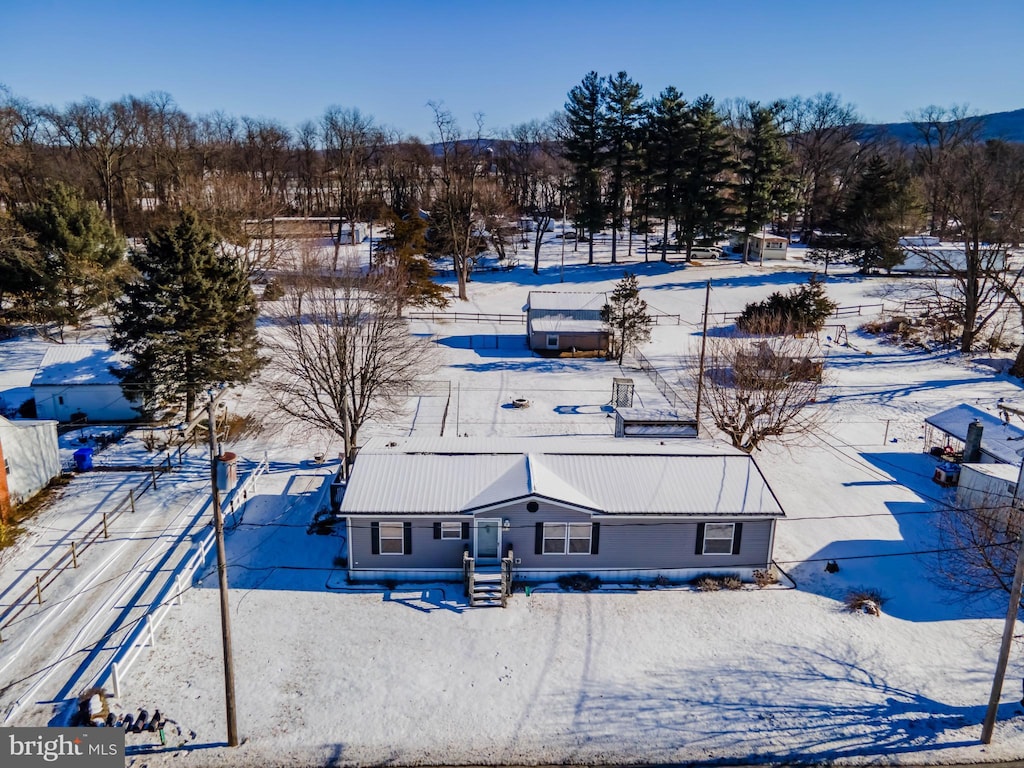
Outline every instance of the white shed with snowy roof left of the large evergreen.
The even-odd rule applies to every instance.
[[[124,365],[104,344],[54,344],[32,379],[36,416],[94,424],[138,420],[141,401],[126,398],[111,371]]]

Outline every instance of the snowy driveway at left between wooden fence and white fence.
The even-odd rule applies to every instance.
[[[0,645],[4,722],[15,718],[48,722],[52,713],[37,702],[73,697],[88,687],[124,634],[152,608],[164,578],[185,556],[191,538],[209,516],[209,480],[189,474],[167,482],[163,479],[171,478],[165,477],[160,489],[143,495],[134,514],[126,512],[111,523],[109,539],[100,538],[82,553],[78,568],[56,578],[43,593],[42,605],[30,605],[5,630]],[[97,482],[92,494],[86,493],[93,478]],[[103,494],[98,473],[78,479],[83,493],[66,494],[62,499],[72,509],[94,498],[97,490]],[[29,558],[29,562],[22,565],[15,560],[5,571],[17,574],[14,583],[31,582],[34,570],[42,571],[67,549],[72,532],[96,524],[101,506],[95,504],[93,514],[72,522],[68,530],[45,529],[37,547],[43,554],[37,557],[31,549],[24,551],[19,559]],[[61,517],[68,516],[51,515],[50,521]],[[14,592],[8,590],[11,596]]]

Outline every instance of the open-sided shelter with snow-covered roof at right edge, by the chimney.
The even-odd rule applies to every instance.
[[[925,451],[936,456],[962,454],[973,422],[982,428],[977,463],[1020,466],[1021,456],[1017,452],[1024,450],[1024,429],[965,402],[925,419]],[[969,457],[968,461],[972,459]]]

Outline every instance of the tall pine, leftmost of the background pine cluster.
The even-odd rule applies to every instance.
[[[572,164],[577,221],[590,234],[587,263],[594,263],[594,233],[604,226],[601,176],[605,163],[604,79],[587,73],[565,102],[565,159]]]

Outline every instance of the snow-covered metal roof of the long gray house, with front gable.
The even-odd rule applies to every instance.
[[[693,439],[433,438],[376,441],[341,513],[471,514],[538,497],[605,514],[781,516],[754,459]]]

